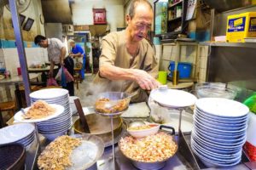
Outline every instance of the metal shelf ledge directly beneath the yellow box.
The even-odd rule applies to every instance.
[[[200,45],[230,48],[256,48],[256,43],[253,42],[200,42]]]

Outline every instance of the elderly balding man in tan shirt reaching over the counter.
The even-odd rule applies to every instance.
[[[94,83],[105,84],[104,91],[136,93],[131,102],[148,100],[147,90],[158,88],[158,63],[154,49],[145,39],[151,30],[153,8],[147,0],[133,0],[126,15],[124,31],[102,38],[99,71]],[[121,82],[120,82],[121,81]]]

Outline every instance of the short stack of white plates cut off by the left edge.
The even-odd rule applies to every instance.
[[[26,149],[35,139],[35,127],[30,123],[20,123],[0,129],[0,145],[23,144]]]

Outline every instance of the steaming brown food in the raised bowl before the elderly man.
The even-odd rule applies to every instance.
[[[96,111],[100,113],[116,113],[127,109],[127,101],[125,99],[110,100],[108,98],[98,99],[96,101]]]

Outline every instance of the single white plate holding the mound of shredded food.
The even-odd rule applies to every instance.
[[[50,116],[40,118],[40,119],[24,119],[22,116],[23,112],[19,111],[15,114],[15,121],[17,121],[17,122],[42,122],[42,121],[46,121],[51,118],[54,118],[55,116],[59,116],[64,111],[64,107],[62,105],[55,105],[55,104],[49,104],[49,105],[56,109],[55,113]],[[27,107],[24,111],[25,112],[28,111],[29,108],[30,107]]]

